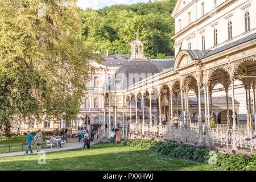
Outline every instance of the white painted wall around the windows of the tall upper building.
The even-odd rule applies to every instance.
[[[192,3],[179,10],[181,13],[175,17],[175,33],[179,32],[179,19],[181,20],[181,30],[189,26],[188,24],[188,12],[191,12],[191,23],[199,21],[204,17],[201,16],[201,3],[204,2],[205,14],[209,11],[217,10],[218,6],[222,3],[228,2],[224,0],[217,1],[217,7],[213,8],[214,0],[200,0],[191,1]],[[182,3],[181,3],[182,4]],[[255,0],[233,0],[225,8],[219,11],[213,11],[210,16],[201,22],[197,23],[195,26],[189,28],[183,34],[177,36],[175,39],[175,56],[179,52],[179,46],[182,43],[181,49],[188,48],[188,38],[191,38],[192,49],[202,49],[201,37],[205,36],[205,49],[215,49],[217,47],[224,46],[234,40],[241,39],[244,36],[256,32],[256,1]],[[250,31],[245,32],[245,12],[250,13]],[[228,39],[228,22],[232,21],[232,34],[233,38]],[[218,31],[218,44],[214,46],[213,42],[213,30],[214,28]]]

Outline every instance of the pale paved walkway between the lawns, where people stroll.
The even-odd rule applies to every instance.
[[[64,151],[64,150],[70,150],[70,149],[75,149],[75,148],[82,148],[84,147],[84,142],[77,142],[77,141],[74,141],[73,138],[68,138],[69,142],[66,143],[65,145],[63,145],[62,148],[47,148],[47,149],[41,149],[41,152],[44,151],[44,152],[59,152],[59,151]],[[77,140],[77,139],[76,139]],[[106,142],[107,140],[102,140],[104,142]],[[98,143],[98,142],[92,142],[90,143],[90,145],[92,146],[93,144],[95,143]],[[10,152],[10,153],[3,153],[3,154],[0,154],[0,157],[6,157],[6,156],[16,156],[16,155],[24,155],[25,151],[22,151],[22,152]],[[38,154],[38,152],[36,150],[33,150],[33,154]],[[28,152],[28,155],[30,155],[30,152]]]

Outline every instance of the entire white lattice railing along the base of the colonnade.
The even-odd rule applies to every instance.
[[[203,123],[203,132],[205,124]],[[228,129],[228,125],[216,125],[209,128],[210,142],[218,143],[221,146],[236,146],[250,148],[251,152],[256,149],[255,131],[247,131],[246,125],[237,125],[237,130]],[[185,143],[199,143],[199,127],[197,123],[191,123],[190,127],[169,126],[169,125],[142,125],[137,123],[130,124],[130,134],[144,135],[145,137],[170,138]],[[193,143],[195,142],[195,143]]]

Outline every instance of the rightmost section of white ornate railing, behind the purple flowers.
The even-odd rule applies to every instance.
[[[232,129],[209,129],[210,142],[218,143],[221,146],[225,144],[228,146],[250,148],[251,152],[256,149],[256,133],[255,131],[246,130],[232,130]]]

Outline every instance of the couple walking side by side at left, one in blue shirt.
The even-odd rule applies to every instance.
[[[37,151],[40,152],[40,148],[41,148],[41,145],[43,142],[42,130],[39,130],[39,132],[36,133],[34,138],[33,138],[32,134],[30,133],[30,131],[27,131],[27,139],[26,139],[27,150],[26,150],[25,154],[28,154],[28,150],[30,150],[30,154],[33,154],[33,151],[31,148],[31,144],[32,144],[33,140],[37,146]]]

